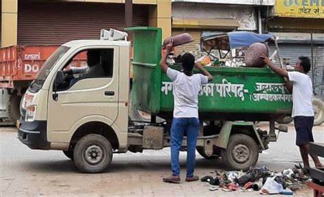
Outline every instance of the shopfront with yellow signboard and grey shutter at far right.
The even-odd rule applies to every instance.
[[[276,0],[265,17],[265,29],[278,36],[280,55],[295,65],[308,56],[314,95],[324,101],[324,1]]]

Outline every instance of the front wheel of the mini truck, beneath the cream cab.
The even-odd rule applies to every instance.
[[[77,142],[73,153],[75,166],[84,173],[103,172],[111,163],[113,149],[103,135],[89,134]]]

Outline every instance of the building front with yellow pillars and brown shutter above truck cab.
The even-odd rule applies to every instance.
[[[125,27],[125,0],[3,0],[1,47],[62,44],[98,39],[100,29]],[[133,25],[163,28],[171,35],[171,0],[133,0]]]

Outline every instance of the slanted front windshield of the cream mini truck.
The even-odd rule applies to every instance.
[[[57,48],[54,53],[52,53],[52,55],[49,57],[49,59],[46,60],[46,62],[44,62],[42,68],[40,68],[40,71],[37,73],[35,83],[42,83],[45,81],[53,66],[62,57],[62,55],[64,55],[66,51],[68,51],[68,49],[70,49],[70,47],[61,46]]]

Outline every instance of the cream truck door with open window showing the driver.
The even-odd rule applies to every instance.
[[[49,142],[70,140],[70,129],[81,122],[113,124],[118,116],[118,65],[119,47],[83,50],[66,60],[60,70],[64,82],[53,83],[49,90]]]

